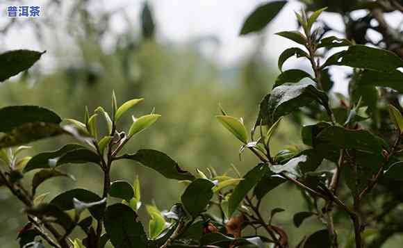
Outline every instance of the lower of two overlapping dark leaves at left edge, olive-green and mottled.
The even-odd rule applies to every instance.
[[[67,131],[58,124],[44,122],[25,123],[5,135],[1,135],[0,149],[4,147],[16,147],[62,134],[67,134]]]

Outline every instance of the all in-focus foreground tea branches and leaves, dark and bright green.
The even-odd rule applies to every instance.
[[[346,8],[352,10],[356,3],[349,1]],[[261,31],[285,5],[286,1],[272,1],[256,8],[241,35]],[[388,194],[385,191],[393,187],[393,182],[402,180],[403,117],[401,106],[393,99],[402,90],[403,74],[398,68],[403,67],[403,60],[387,49],[357,44],[348,37],[326,36],[326,30],[316,28],[322,12],[348,10],[334,8],[329,1],[329,8],[311,15],[304,11],[296,14],[300,31],[277,33],[299,47],[286,49],[279,56],[281,74],[272,91],[263,97],[250,133],[242,118],[232,117],[224,110],[217,115],[217,121],[242,142],[239,154],[249,150],[259,160],[243,176],[235,167],[235,176],[219,175],[211,167],[206,169],[208,173],[197,170],[193,175],[166,154],[152,149],[121,154],[129,140],[161,117],[154,110],[149,115],[133,116],[129,130],[120,130],[120,119],[143,99],[132,99],[118,107],[113,93],[110,113],[102,107],[92,114],[86,109],[83,122],[62,120],[39,106],[1,108],[0,160],[5,166],[0,170],[0,186],[22,201],[28,217],[28,223],[19,232],[20,247],[44,247],[47,242],[51,247],[100,248],[110,242],[114,247],[286,248],[290,247],[287,232],[274,224],[274,217],[284,210],[272,209],[268,220],[260,210],[263,197],[286,182],[301,190],[308,206],[294,216],[295,226],[301,226],[310,217],[324,226],[308,233],[296,247],[362,248],[368,237],[375,240],[372,247],[379,247],[385,241],[382,226],[388,224],[381,222],[379,215],[387,215],[388,211],[377,213],[366,201],[368,194],[375,192],[381,204],[388,204],[388,199],[396,201],[392,209],[400,203],[400,190]],[[330,55],[332,49],[340,47],[346,49]],[[1,54],[0,81],[25,71],[42,54],[26,50]],[[313,74],[302,69],[283,70],[283,64],[293,56],[308,60]],[[331,100],[331,66],[353,69],[348,97],[338,94],[336,101]],[[304,147],[288,147],[273,156],[270,141],[281,126],[281,119],[287,116],[302,125]],[[99,125],[99,118],[104,120],[103,126]],[[313,124],[303,125],[307,120]],[[396,132],[390,135],[382,130]],[[29,148],[24,144],[58,135],[70,135],[77,143],[33,157],[20,156]],[[136,213],[143,206],[140,180],[131,184],[110,179],[110,170],[118,160],[131,160],[186,185],[181,201],[170,210],[145,206],[150,215],[148,233]],[[46,194],[36,194],[48,179],[74,179],[61,170],[62,165],[83,163],[93,164],[103,172],[102,195],[76,188],[47,201]],[[28,179],[29,173],[33,176],[28,189],[22,181]],[[113,204],[116,199],[120,203]],[[215,213],[220,213],[220,217]],[[339,213],[352,222],[352,240],[338,237],[335,220]],[[382,225],[375,234],[365,230],[370,230],[368,225],[372,222]],[[248,226],[256,230],[256,235],[243,234]],[[69,236],[76,229],[81,229],[84,237],[71,240]],[[258,235],[259,229],[267,235]]]

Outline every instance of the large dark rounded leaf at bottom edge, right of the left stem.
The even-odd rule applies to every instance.
[[[136,213],[124,204],[108,206],[105,212],[105,229],[116,248],[147,248],[147,235]]]

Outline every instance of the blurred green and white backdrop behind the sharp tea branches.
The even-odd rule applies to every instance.
[[[230,115],[242,117],[252,128],[258,103],[269,92],[279,74],[277,56],[290,42],[274,33],[297,28],[294,11],[302,8],[290,1],[265,33],[239,37],[245,17],[256,8],[258,0],[38,0],[0,2],[0,50],[46,50],[40,63],[29,72],[0,85],[0,107],[40,105],[63,118],[83,120],[85,106],[93,111],[104,106],[110,111],[111,92],[118,104],[144,97],[131,114],[144,115],[155,108],[163,115],[155,126],[140,133],[126,146],[128,152],[141,148],[164,151],[181,167],[218,173],[231,171],[235,165],[243,174],[258,161],[250,154],[238,156],[240,143],[215,120],[219,104]],[[41,17],[7,17],[8,6],[41,6]],[[357,12],[359,17],[362,13]],[[393,13],[386,16],[393,20]],[[338,15],[324,15],[333,28],[343,29]],[[304,67],[287,62],[285,67]],[[334,92],[345,92],[345,72],[334,73]],[[131,118],[122,120],[129,128]],[[33,155],[58,149],[62,138],[35,142]],[[283,122],[273,142],[274,154],[288,144],[301,144],[299,130]],[[51,179],[39,193],[49,192],[48,199],[62,189],[89,188],[101,191],[101,172],[91,165],[65,167],[76,181]],[[158,173],[124,162],[113,167],[113,179],[133,181],[140,177],[143,204],[155,203],[161,210],[179,201],[185,185],[165,179]],[[312,221],[299,230],[293,214],[304,208],[298,190],[284,184],[265,197],[265,215],[274,207],[286,208],[277,224],[288,231],[296,245],[306,228],[320,226]],[[22,206],[6,189],[0,188],[0,246],[17,247],[17,230],[26,220]],[[145,208],[140,219],[147,222]],[[147,224],[145,224],[147,226]],[[349,226],[344,229],[349,232]],[[342,229],[343,230],[343,229]],[[399,242],[390,240],[390,246]]]

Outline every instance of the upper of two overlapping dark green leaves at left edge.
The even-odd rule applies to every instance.
[[[44,122],[60,124],[62,119],[53,111],[39,106],[8,106],[0,108],[0,132],[8,133],[23,124]]]

